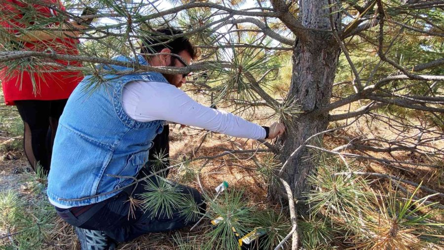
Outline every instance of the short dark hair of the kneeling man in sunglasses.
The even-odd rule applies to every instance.
[[[173,28],[162,28],[156,30],[152,36],[142,39],[142,47],[140,53],[154,54],[159,53],[162,49],[168,48],[172,54],[179,54],[181,51],[189,53],[192,59],[197,58],[197,51],[185,36],[171,39],[173,35],[184,34],[181,30]],[[153,45],[154,44],[154,45]]]

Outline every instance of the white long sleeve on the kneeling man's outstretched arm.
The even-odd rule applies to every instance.
[[[122,104],[134,120],[166,120],[213,132],[264,139],[265,129],[234,114],[205,107],[176,86],[154,81],[134,81],[123,87]]]

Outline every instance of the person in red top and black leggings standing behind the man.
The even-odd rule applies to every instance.
[[[78,55],[78,33],[67,30],[82,26],[61,18],[59,12],[65,7],[59,0],[1,2],[1,29],[10,34],[10,42],[3,45],[5,50]],[[42,30],[25,30],[30,26]],[[41,61],[37,64],[30,60],[36,59],[16,60],[16,67],[0,65],[0,80],[6,105],[15,105],[24,122],[24,150],[32,168],[37,170],[39,164],[48,173],[59,117],[83,76],[68,68],[81,67],[78,62],[38,59]]]

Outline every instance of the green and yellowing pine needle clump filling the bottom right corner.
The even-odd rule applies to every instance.
[[[420,186],[405,194],[390,180],[374,186],[352,174],[335,175],[343,169],[335,157],[318,155],[318,171],[308,178],[314,187],[306,194],[310,210],[298,221],[306,249],[329,249],[338,242],[371,250],[442,245],[444,212],[431,201],[437,194],[418,198]]]

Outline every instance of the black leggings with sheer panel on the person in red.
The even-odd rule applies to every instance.
[[[68,99],[40,101],[15,101],[24,123],[23,148],[31,167],[36,170],[37,163],[46,173],[51,164],[52,146]]]

